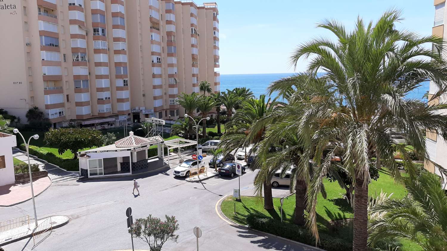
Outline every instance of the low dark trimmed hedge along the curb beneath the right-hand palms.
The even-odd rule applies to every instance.
[[[300,228],[297,225],[281,222],[273,218],[258,217],[255,214],[250,214],[247,217],[247,224],[250,228],[315,247],[315,238],[313,235],[308,230]],[[352,251],[352,242],[328,234],[320,233],[319,235],[320,242],[317,247],[321,249],[327,251]],[[380,250],[370,248],[369,251]]]

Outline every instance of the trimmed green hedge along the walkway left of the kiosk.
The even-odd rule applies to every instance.
[[[20,144],[19,148],[26,151],[25,144]],[[48,163],[55,164],[67,171],[79,171],[79,159],[62,159],[49,151],[40,149],[38,146],[30,146],[30,155],[35,155],[39,159],[46,160]]]

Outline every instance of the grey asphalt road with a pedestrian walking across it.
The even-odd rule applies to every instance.
[[[207,163],[207,157],[204,159]],[[211,168],[210,168],[211,169]],[[247,191],[253,187],[254,172],[247,171],[240,178],[240,186]],[[138,197],[132,194],[133,181],[140,184]],[[202,183],[189,183],[173,176],[173,169],[153,176],[108,178],[89,181],[67,181],[52,184],[36,197],[38,218],[65,215],[70,222],[55,229],[34,251],[112,251],[131,249],[127,233],[127,207],[132,207],[136,218],[149,214],[164,219],[176,216],[180,225],[177,243],[167,242],[163,250],[196,250],[194,226],[202,229],[199,247],[208,250],[290,250],[308,251],[307,247],[257,232],[228,225],[215,212],[216,202],[232,194],[238,178],[215,177]],[[278,192],[283,192],[282,190]],[[0,208],[0,221],[24,214],[33,215],[32,202]],[[148,244],[134,239],[135,249],[148,250]],[[5,251],[31,250],[32,239],[21,240],[4,247]]]

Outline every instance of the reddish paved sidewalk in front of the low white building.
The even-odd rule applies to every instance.
[[[45,191],[51,185],[48,177],[33,181],[34,196]],[[31,199],[31,184],[9,184],[0,187],[0,207],[12,206]]]

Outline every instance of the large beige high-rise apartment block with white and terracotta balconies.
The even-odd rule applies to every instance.
[[[4,0],[0,108],[39,107],[54,127],[176,120],[175,99],[208,81],[218,92],[216,3]]]

